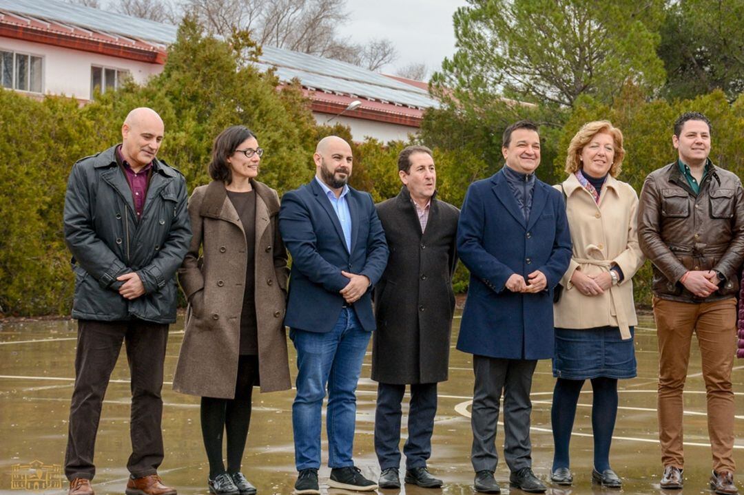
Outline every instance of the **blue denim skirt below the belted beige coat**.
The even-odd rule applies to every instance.
[[[622,340],[616,326],[594,329],[555,329],[553,376],[567,380],[633,378],[636,375],[634,329]]]

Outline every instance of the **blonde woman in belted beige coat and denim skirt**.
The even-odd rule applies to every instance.
[[[554,305],[557,377],[551,419],[555,451],[551,479],[571,485],[568,444],[584,381],[591,380],[593,482],[620,488],[609,465],[618,411],[618,378],[635,376],[632,277],[643,265],[635,213],[638,195],[617,179],[623,135],[607,120],[585,124],[568,146],[559,184],[566,199],[573,254]]]

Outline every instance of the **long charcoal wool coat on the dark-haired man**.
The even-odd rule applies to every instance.
[[[376,208],[390,257],[374,291],[372,379],[385,384],[446,381],[460,210],[434,195],[422,234],[406,187]]]

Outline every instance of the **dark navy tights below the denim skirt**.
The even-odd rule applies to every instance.
[[[568,466],[568,443],[574,429],[576,405],[583,380],[558,378],[553,391],[551,422],[553,424],[553,470]],[[594,468],[600,473],[609,469],[609,446],[618,415],[618,380],[616,378],[592,378],[591,430],[594,433]]]

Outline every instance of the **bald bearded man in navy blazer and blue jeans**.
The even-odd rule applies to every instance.
[[[321,409],[328,389],[328,485],[373,491],[352,460],[356,384],[375,329],[372,286],[388,262],[385,232],[369,193],[349,187],[353,157],[341,138],[322,139],[315,178],[282,198],[281,236],[292,254],[284,324],[297,349],[292,404],[295,494],[320,494]]]

